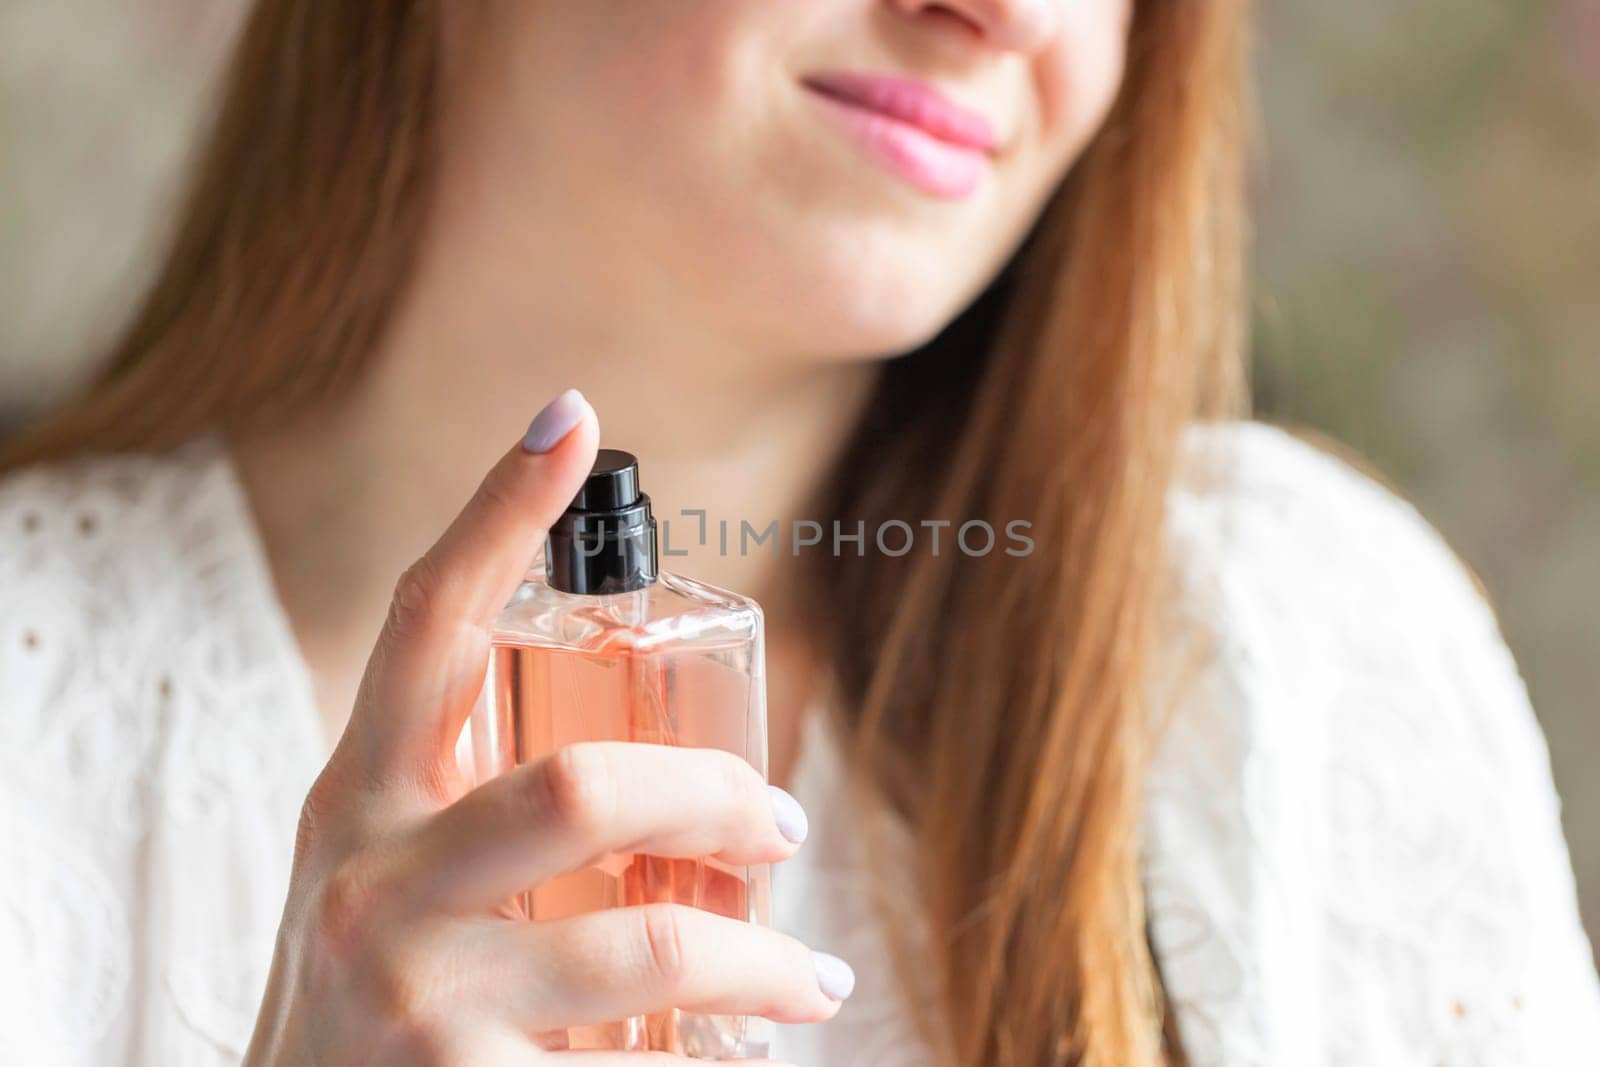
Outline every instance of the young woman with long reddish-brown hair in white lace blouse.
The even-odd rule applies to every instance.
[[[1224,418],[1243,8],[261,0],[149,299],[3,456],[6,1061],[666,1064],[552,1035],[667,1008],[827,1067],[1600,1048],[1469,571]],[[698,547],[787,792],[467,789],[602,421],[669,518],[1034,550]],[[778,929],[496,910],[621,846],[784,861]]]

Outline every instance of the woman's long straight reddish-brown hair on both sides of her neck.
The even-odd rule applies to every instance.
[[[1245,8],[1136,3],[1104,130],[987,291],[885,366],[829,485],[851,520],[1030,522],[1021,558],[816,557],[858,777],[917,835],[925,1022],[960,1067],[1178,1057],[1139,885],[1142,681],[1182,429],[1243,406]],[[230,434],[360,379],[418,258],[440,10],[256,5],[149,298],[0,469]]]

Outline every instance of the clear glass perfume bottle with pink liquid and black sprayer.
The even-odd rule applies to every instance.
[[[766,777],[762,609],[659,571],[656,520],[632,454],[600,450],[501,613],[469,736],[480,782],[578,741],[723,749]],[[651,902],[768,925],[771,872],[611,854],[536,886],[517,907],[539,921]],[[667,1011],[554,1037],[571,1049],[752,1059],[766,1056],[773,1025]]]

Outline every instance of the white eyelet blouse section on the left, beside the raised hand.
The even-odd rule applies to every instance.
[[[0,1062],[240,1062],[325,744],[226,451],[8,477],[0,595]]]

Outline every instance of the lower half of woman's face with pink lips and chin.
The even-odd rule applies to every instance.
[[[574,274],[885,355],[1021,242],[1117,93],[1131,2],[507,0],[478,66],[582,227]]]

